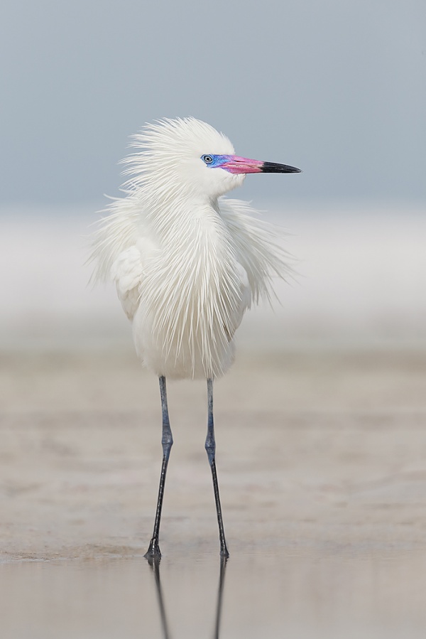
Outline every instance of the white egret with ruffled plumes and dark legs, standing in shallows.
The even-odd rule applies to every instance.
[[[237,156],[231,141],[195,117],[159,119],[131,139],[123,196],[111,198],[92,234],[94,280],[112,280],[132,323],[143,365],[158,376],[163,459],[153,535],[173,446],[166,379],[207,380],[205,449],[212,472],[222,558],[229,557],[216,469],[213,382],[234,361],[244,313],[273,298],[273,278],[291,272],[277,230],[251,204],[225,196],[249,173],[300,173]]]

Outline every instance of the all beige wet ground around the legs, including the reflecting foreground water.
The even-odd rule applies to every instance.
[[[160,637],[143,559],[158,382],[133,353],[2,353],[0,618],[17,638]],[[222,639],[425,635],[426,353],[239,353],[215,388]],[[170,636],[214,633],[202,382],[168,386]]]

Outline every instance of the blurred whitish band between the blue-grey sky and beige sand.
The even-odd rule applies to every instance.
[[[27,213],[25,213],[25,210]],[[88,286],[94,211],[0,216],[0,348],[133,349],[113,284]],[[425,348],[426,217],[419,208],[271,208],[288,231],[295,279],[246,313],[244,350]]]

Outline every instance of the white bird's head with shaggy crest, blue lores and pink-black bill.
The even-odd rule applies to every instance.
[[[138,151],[124,160],[132,176],[126,186],[161,198],[190,193],[214,199],[241,186],[247,173],[300,173],[294,166],[236,156],[224,134],[192,117],[148,125],[132,146]]]

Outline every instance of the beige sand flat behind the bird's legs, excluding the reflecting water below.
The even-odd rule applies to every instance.
[[[425,368],[415,352],[241,355],[214,398],[231,546],[424,547]],[[56,353],[3,355],[1,378],[1,556],[143,553],[160,469],[155,377],[133,353]],[[216,552],[204,384],[168,394],[163,549]]]

